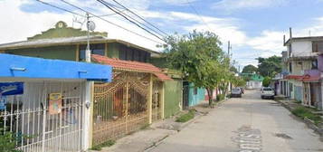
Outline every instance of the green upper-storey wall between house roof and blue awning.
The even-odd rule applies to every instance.
[[[45,58],[45,59],[61,59],[61,60],[75,61],[76,60],[75,50],[76,50],[75,45],[66,45],[66,46],[52,46],[52,47],[42,47],[42,48],[7,50],[5,51],[5,53],[39,57],[39,58]]]

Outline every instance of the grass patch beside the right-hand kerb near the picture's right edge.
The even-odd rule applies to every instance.
[[[309,109],[303,106],[299,106],[296,109],[291,110],[291,113],[294,114],[295,116],[301,118],[301,119],[305,119],[308,118],[312,121],[314,121],[314,123],[316,125],[318,125],[319,123],[323,122],[323,120],[319,117],[318,114],[314,114],[312,113],[313,109]]]

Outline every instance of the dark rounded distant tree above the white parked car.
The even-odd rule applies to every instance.
[[[258,71],[262,76],[273,77],[274,74],[281,71],[281,57],[271,56],[269,58],[257,58]]]

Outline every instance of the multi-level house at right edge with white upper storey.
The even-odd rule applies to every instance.
[[[290,34],[291,35],[291,34]],[[288,92],[291,99],[303,105],[322,109],[323,36],[291,37],[284,42],[287,47]]]

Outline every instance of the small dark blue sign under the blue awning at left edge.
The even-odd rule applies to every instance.
[[[24,94],[24,82],[0,82],[2,96]]]

